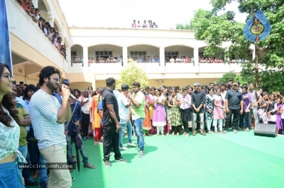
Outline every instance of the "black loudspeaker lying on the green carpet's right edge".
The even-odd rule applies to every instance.
[[[276,137],[278,134],[278,129],[275,124],[264,124],[258,123],[254,127],[254,135],[255,136],[269,136]]]

